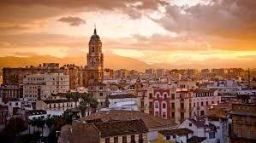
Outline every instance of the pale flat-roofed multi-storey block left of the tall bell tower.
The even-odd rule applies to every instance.
[[[23,79],[23,98],[28,101],[47,99],[50,94],[66,93],[69,76],[63,73],[27,75]]]

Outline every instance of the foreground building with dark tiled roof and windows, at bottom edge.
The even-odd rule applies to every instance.
[[[72,123],[71,143],[144,143],[147,142],[146,124],[140,120]]]

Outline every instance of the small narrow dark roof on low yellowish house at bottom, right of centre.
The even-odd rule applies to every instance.
[[[164,135],[187,135],[190,133],[193,133],[192,130],[190,129],[164,129],[164,130],[159,130],[159,133],[164,134]]]

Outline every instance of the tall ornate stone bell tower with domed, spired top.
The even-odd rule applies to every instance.
[[[87,87],[92,83],[103,82],[104,57],[102,53],[102,43],[94,28],[93,35],[89,41],[89,51],[87,53],[87,66],[83,74],[83,85]]]

